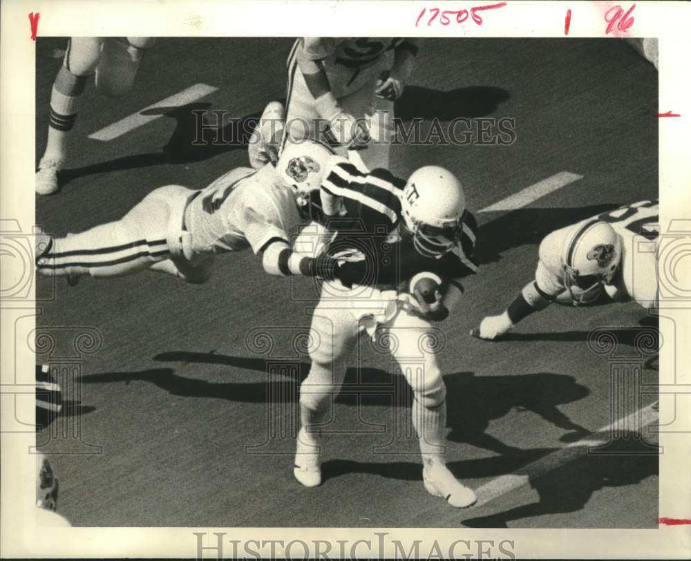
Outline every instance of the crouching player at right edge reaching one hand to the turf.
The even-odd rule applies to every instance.
[[[495,339],[554,301],[584,305],[603,292],[613,301],[655,307],[658,213],[657,200],[643,200],[553,231],[540,243],[535,280],[471,334]]]

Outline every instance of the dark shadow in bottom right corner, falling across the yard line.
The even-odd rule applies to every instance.
[[[609,435],[596,435],[607,441]],[[637,485],[659,473],[659,455],[656,449],[640,440],[640,435],[624,433],[609,441],[607,453],[584,453],[573,462],[547,471],[527,469],[529,484],[538,493],[538,499],[515,506],[507,511],[466,518],[464,526],[472,528],[507,528],[509,523],[529,517],[575,513],[583,510],[592,495],[606,487]],[[532,472],[532,473],[531,473]],[[545,473],[545,475],[540,475]],[[518,471],[520,475],[520,470]],[[535,474],[535,475],[533,475]],[[519,496],[524,496],[521,493]],[[480,507],[492,511],[492,504]],[[650,524],[657,527],[657,495],[647,501],[643,498],[644,513],[650,513]],[[624,520],[602,520],[603,526],[621,527]],[[542,520],[540,524],[545,524]]]

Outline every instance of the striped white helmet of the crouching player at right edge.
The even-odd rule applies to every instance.
[[[621,239],[609,222],[589,220],[564,240],[564,287],[574,305],[598,298],[603,285],[612,283],[621,263]]]

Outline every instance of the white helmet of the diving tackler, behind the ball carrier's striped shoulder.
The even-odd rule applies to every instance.
[[[321,187],[328,161],[333,155],[334,151],[325,144],[288,139],[278,157],[276,171],[281,180],[294,189],[298,200],[305,204],[310,192]]]

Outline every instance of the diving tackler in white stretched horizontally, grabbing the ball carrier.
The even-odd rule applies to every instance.
[[[311,141],[289,143],[274,167],[233,169],[202,190],[155,189],[122,220],[64,238],[37,238],[44,276],[121,276],[144,269],[205,283],[214,256],[252,248],[272,275],[333,275],[336,260],[292,251],[305,220],[302,193],[318,189],[332,151]],[[320,163],[321,162],[321,163]]]

